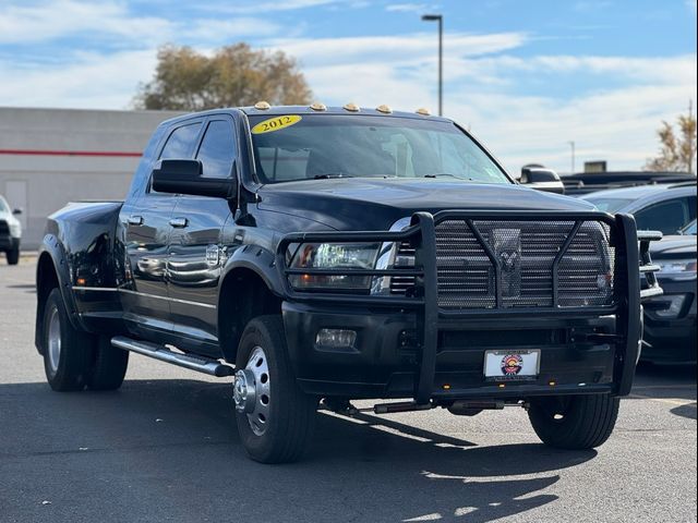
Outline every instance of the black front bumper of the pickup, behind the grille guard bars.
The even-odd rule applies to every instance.
[[[419,378],[417,314],[363,307],[284,303],[289,354],[301,388],[317,396],[406,398]],[[450,323],[440,329],[431,398],[522,399],[549,393],[612,392],[615,316]],[[351,348],[316,343],[321,329],[351,329]],[[488,350],[540,349],[537,378],[492,382],[483,374]],[[552,385],[551,385],[552,384]]]

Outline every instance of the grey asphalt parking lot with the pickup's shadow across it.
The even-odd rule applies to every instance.
[[[229,380],[132,354],[118,392],[52,392],[33,278],[0,260],[2,523],[696,521],[695,367],[641,367],[598,451],[543,447],[515,409],[323,413],[303,462],[260,465]]]

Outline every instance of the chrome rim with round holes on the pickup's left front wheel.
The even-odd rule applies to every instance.
[[[250,428],[256,436],[262,436],[269,425],[270,392],[266,353],[257,345],[252,350],[245,368],[236,373],[233,384],[236,410],[246,415]]]

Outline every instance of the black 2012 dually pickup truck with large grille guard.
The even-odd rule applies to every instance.
[[[125,202],[49,218],[36,346],[59,391],[117,389],[129,352],[232,378],[261,462],[298,459],[318,406],[358,399],[517,405],[586,449],[630,390],[659,236],[517,185],[426,111],[189,114],[154,133]]]

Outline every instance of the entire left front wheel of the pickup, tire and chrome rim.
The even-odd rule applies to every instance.
[[[317,399],[296,382],[280,316],[248,324],[236,367],[236,418],[248,454],[262,463],[298,460],[312,434]]]

